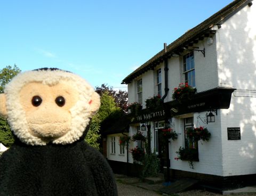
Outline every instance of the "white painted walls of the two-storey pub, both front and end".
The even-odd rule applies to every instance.
[[[207,38],[198,43],[199,49],[205,47],[205,58],[195,51],[195,75],[197,92],[218,86],[237,89],[256,89],[256,5],[245,6],[229,18],[212,36],[213,44],[207,45]],[[162,64],[160,65],[162,66]],[[169,59],[170,89],[165,102],[171,101],[172,90],[183,82],[182,56]],[[164,70],[162,72],[164,88]],[[143,100],[154,95],[154,72],[142,75]],[[135,101],[135,83],[128,85],[129,103]],[[164,94],[164,91],[163,91]],[[255,93],[234,92],[236,96],[255,96]],[[205,112],[194,113],[197,116]],[[182,117],[184,118],[184,116]],[[171,141],[171,168],[197,173],[233,176],[256,173],[256,97],[232,96],[230,108],[218,110],[215,123],[207,128],[212,136],[209,142],[198,143],[199,162],[194,162],[195,169],[189,168],[188,161],[176,161],[175,153],[184,144],[183,121],[175,118],[178,140]],[[227,127],[241,127],[241,140],[228,141]],[[152,129],[153,130],[153,129]],[[153,132],[154,133],[154,132]],[[152,143],[151,146],[154,146]]]

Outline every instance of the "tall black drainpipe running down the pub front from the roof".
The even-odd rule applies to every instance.
[[[167,52],[167,48],[166,48],[166,43],[164,43],[164,52]],[[164,99],[167,96],[167,93],[169,91],[168,88],[168,59],[164,58],[164,96],[162,97],[162,102],[164,103]],[[167,111],[165,108],[165,111]],[[168,117],[165,116],[165,125],[167,125],[168,123]],[[170,181],[170,157],[169,157],[169,140],[167,140],[167,142],[165,143],[165,148],[166,148],[166,180],[167,182]]]

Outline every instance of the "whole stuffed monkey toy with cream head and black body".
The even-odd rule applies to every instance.
[[[99,107],[99,95],[71,72],[15,76],[0,94],[15,138],[0,157],[0,195],[117,195],[107,161],[84,142]]]

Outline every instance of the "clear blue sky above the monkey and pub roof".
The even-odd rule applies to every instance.
[[[122,80],[232,0],[2,0],[0,69],[56,67],[92,86]]]

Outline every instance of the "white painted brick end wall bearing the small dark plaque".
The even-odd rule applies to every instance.
[[[219,85],[256,89],[256,5],[245,6],[222,24],[217,36]],[[255,93],[234,92],[235,96]],[[222,110],[223,176],[256,173],[256,98],[232,96]],[[227,127],[241,127],[241,140],[228,141]]]

